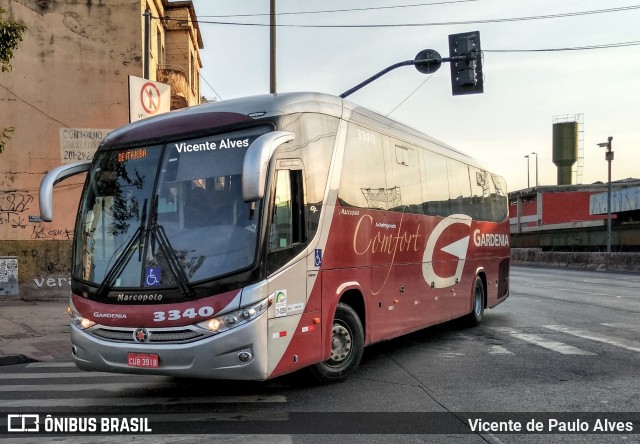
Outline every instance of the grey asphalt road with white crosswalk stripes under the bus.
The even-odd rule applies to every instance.
[[[156,432],[188,424],[193,433],[139,443],[211,442],[216,432],[231,443],[639,442],[639,333],[640,276],[513,267],[511,296],[481,326],[451,322],[368,347],[357,374],[339,384],[313,385],[302,374],[246,383],[84,373],[69,362],[5,366],[0,431],[7,415],[31,413],[145,417]],[[523,430],[530,420],[544,430],[558,421],[556,431],[585,423],[592,431],[606,419],[633,432],[499,433],[491,424],[470,432],[480,419]]]

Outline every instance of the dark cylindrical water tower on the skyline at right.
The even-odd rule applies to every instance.
[[[577,183],[582,182],[583,134],[582,114],[553,118],[553,163],[558,167],[558,185],[572,185],[574,172]]]

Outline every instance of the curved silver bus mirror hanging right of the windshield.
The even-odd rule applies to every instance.
[[[276,148],[294,137],[288,131],[273,131],[258,137],[249,146],[242,165],[242,199],[245,202],[255,202],[264,197],[271,156]]]

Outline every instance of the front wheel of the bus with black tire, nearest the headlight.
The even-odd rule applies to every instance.
[[[311,366],[309,370],[322,383],[343,380],[358,368],[363,351],[362,322],[353,308],[340,302],[333,318],[331,357]]]

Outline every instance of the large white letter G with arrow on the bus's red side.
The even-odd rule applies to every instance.
[[[456,227],[456,225],[462,225],[463,227]],[[458,229],[456,230],[455,228]],[[463,228],[463,233],[467,235],[460,236],[459,228]],[[460,281],[471,238],[470,229],[471,217],[466,214],[452,214],[436,225],[427,240],[424,255],[422,256],[422,275],[427,284],[433,284],[434,288],[446,288]],[[453,241],[436,251],[436,245],[442,236],[451,237]],[[440,276],[433,268],[434,263],[439,262],[434,258],[434,255],[437,256],[440,251],[458,258],[455,271],[449,276]]]

